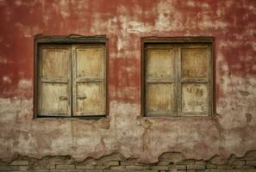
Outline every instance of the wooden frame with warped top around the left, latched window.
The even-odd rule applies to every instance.
[[[71,44],[76,44],[76,45],[89,45],[89,44],[103,44],[104,49],[105,49],[105,54],[104,54],[104,83],[103,87],[105,89],[104,91],[104,103],[105,103],[105,113],[104,114],[93,114],[93,115],[86,115],[86,116],[40,116],[39,115],[39,109],[38,109],[38,102],[39,102],[39,96],[38,96],[38,91],[39,91],[39,70],[40,70],[40,51],[39,48],[40,46],[44,45],[71,45]],[[71,34],[68,36],[44,36],[44,35],[35,35],[34,36],[34,119],[41,119],[41,118],[68,118],[68,119],[84,119],[84,120],[98,120],[103,117],[106,117],[109,114],[109,104],[108,104],[108,38],[106,35],[97,35],[97,36],[82,36],[82,35],[77,35],[77,34]],[[73,51],[73,50],[72,50]],[[72,57],[73,58],[73,57]],[[71,71],[73,69],[71,68]],[[73,78],[71,78],[73,80]],[[73,81],[72,81],[73,82]],[[72,92],[72,89],[70,89]],[[72,95],[72,94],[71,94]],[[71,105],[73,102],[71,102]],[[71,112],[73,114],[73,112]]]

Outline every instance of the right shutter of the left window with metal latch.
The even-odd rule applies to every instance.
[[[106,114],[106,55],[104,45],[74,45],[72,52],[73,115]]]

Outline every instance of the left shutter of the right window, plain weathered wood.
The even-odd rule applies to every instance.
[[[146,114],[176,115],[177,51],[170,45],[146,47]]]

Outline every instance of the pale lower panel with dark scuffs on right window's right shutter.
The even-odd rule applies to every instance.
[[[209,95],[207,83],[182,84],[182,112],[204,113],[208,112]]]

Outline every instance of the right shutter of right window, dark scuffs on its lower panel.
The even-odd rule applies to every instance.
[[[208,115],[212,107],[210,46],[184,45],[180,54],[181,115]]]

